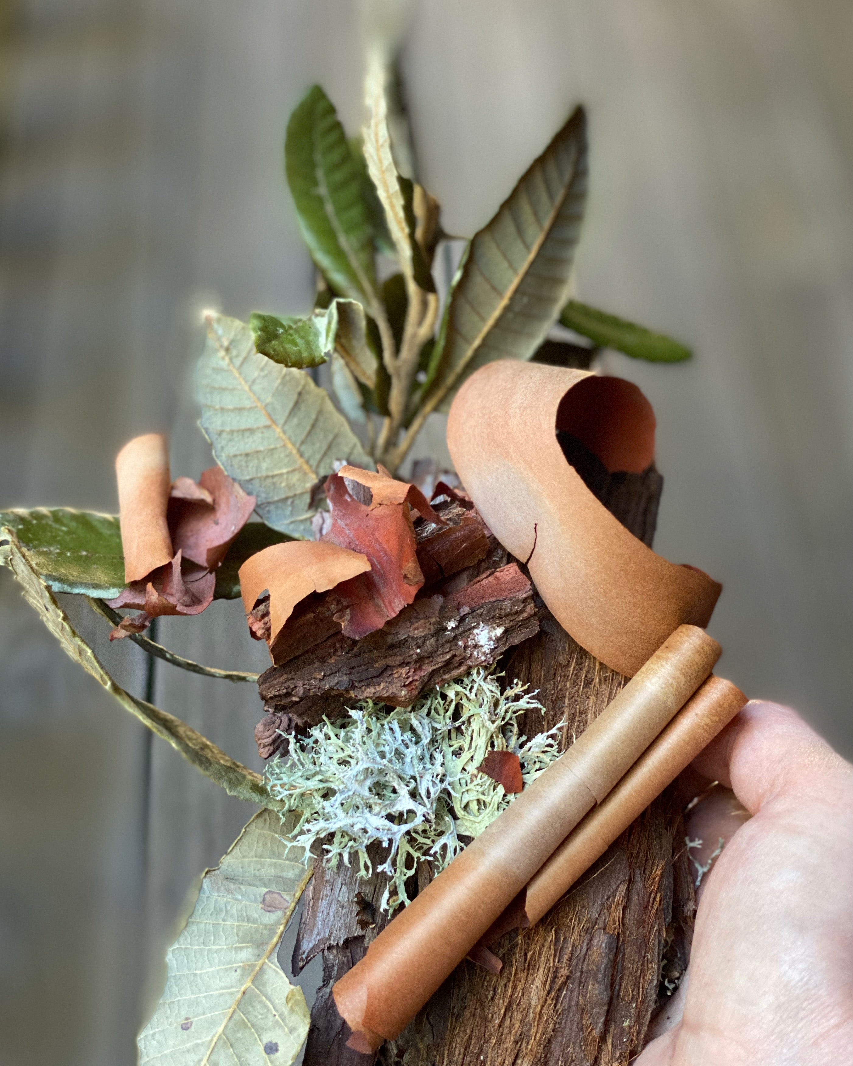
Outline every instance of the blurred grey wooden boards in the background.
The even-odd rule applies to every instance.
[[[0,2],[0,505],[115,510],[112,458],[173,432],[206,465],[198,311],[307,309],[281,177],[321,81],[361,119],[358,4]],[[590,303],[691,342],[608,356],[659,419],[658,550],[725,583],[722,672],[853,753],[853,6],[844,0],[419,0],[422,176],[469,236],[577,100]],[[435,431],[440,433],[440,429]],[[251,811],[114,706],[0,574],[0,1062],[126,1066],[194,876]],[[134,647],[85,634],[142,692]],[[97,634],[97,636],[95,635]],[[240,608],[165,643],[257,668]],[[254,664],[254,667],[253,667]],[[161,664],[156,701],[253,760],[248,687]]]

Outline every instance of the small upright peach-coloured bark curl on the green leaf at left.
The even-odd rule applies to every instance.
[[[128,441],[115,457],[125,581],[141,581],[172,562],[166,507],[172,479],[166,438],[146,433]]]

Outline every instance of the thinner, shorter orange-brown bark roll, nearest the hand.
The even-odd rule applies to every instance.
[[[746,696],[737,685],[721,677],[708,678],[605,802],[590,811],[531,878],[525,900],[531,925],[565,895],[745,704]]]

